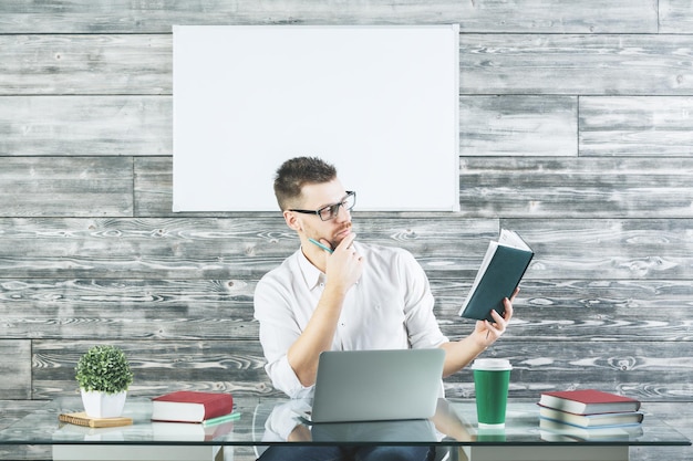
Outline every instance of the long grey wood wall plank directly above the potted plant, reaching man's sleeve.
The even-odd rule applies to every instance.
[[[252,280],[0,279],[2,337],[258,339]]]

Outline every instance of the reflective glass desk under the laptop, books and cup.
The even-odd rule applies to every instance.
[[[221,460],[232,447],[271,444],[426,444],[447,459],[472,461],[618,460],[629,447],[690,446],[691,442],[645,410],[635,430],[586,437],[572,430],[545,429],[535,402],[508,402],[506,427],[479,429],[472,400],[439,400],[431,420],[303,425],[296,410],[307,402],[281,398],[236,398],[238,420],[204,427],[149,421],[148,399],[128,397],[132,426],[92,429],[58,421],[61,412],[82,411],[79,397],[48,402],[0,430],[0,444],[52,446],[55,460]],[[645,405],[647,407],[647,405]],[[291,436],[289,436],[291,434]],[[290,437],[291,441],[287,438]],[[443,458],[443,455],[441,455]]]

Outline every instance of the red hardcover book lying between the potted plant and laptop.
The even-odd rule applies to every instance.
[[[152,399],[155,421],[203,422],[234,411],[234,397],[223,392],[178,390]]]

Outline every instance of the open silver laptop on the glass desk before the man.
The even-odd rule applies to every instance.
[[[431,418],[443,396],[445,352],[329,350],[320,354],[307,422]]]

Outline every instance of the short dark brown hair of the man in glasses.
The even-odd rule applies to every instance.
[[[301,189],[308,184],[329,182],[337,178],[334,166],[318,157],[296,157],[285,161],[275,177],[275,196],[283,211],[296,207]]]

